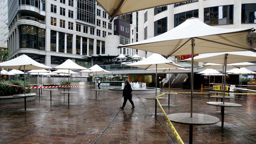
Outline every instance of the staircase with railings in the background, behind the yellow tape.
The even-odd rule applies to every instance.
[[[179,88],[179,89],[182,89],[183,88],[183,81],[185,78],[187,78],[187,74],[173,74],[171,76],[171,78],[169,79],[170,81],[170,87],[171,88]],[[174,80],[175,79],[175,80]],[[173,81],[174,80],[174,81]],[[164,88],[168,88],[169,87],[169,81],[167,83],[165,83],[165,85],[163,85]],[[173,82],[173,84],[171,84]]]

